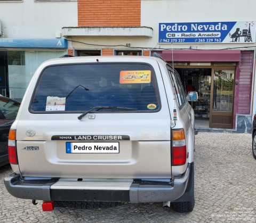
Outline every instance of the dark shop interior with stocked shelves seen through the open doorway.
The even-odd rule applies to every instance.
[[[175,70],[180,75],[184,89],[186,90],[187,86],[193,86],[194,90],[198,93],[198,101],[190,102],[195,112],[195,127],[209,128],[212,69],[175,68]]]

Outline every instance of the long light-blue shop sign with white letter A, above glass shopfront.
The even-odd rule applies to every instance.
[[[4,48],[68,48],[67,39],[19,39],[0,38]]]

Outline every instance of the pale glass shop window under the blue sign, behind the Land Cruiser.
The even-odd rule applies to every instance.
[[[21,102],[29,81],[41,63],[58,58],[66,51],[7,51],[10,98]]]

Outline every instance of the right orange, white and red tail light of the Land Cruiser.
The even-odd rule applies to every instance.
[[[184,129],[172,130],[172,165],[184,165],[187,162],[187,156]]]

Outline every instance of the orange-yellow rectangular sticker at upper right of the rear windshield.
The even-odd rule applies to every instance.
[[[120,72],[120,84],[150,83],[151,70],[130,70]]]

